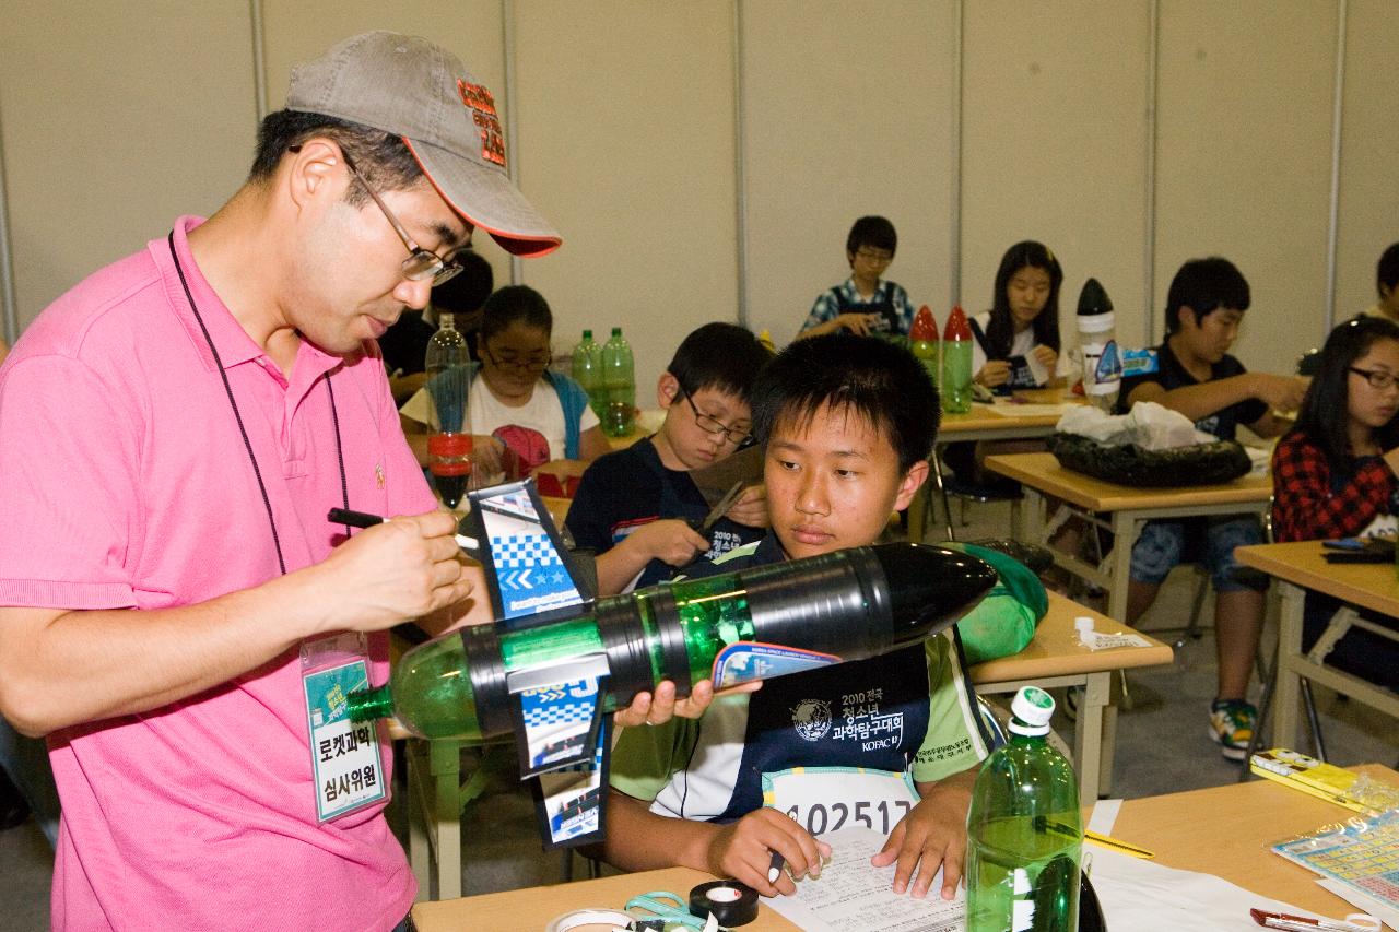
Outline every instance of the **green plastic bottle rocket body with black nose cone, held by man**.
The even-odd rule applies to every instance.
[[[667,679],[687,696],[743,641],[862,659],[950,626],[995,579],[974,557],[891,544],[652,586],[576,617],[467,627],[418,645],[389,686],[348,697],[350,718],[392,712],[422,737],[477,740],[512,730],[512,693],[607,675],[604,711]],[[765,669],[726,673],[725,684]]]

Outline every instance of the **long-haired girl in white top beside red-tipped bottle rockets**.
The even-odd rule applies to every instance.
[[[1009,393],[1056,382],[1063,269],[1044,243],[1017,242],[1000,257],[990,311],[971,318],[975,379]]]

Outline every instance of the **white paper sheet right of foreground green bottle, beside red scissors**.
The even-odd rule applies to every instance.
[[[1086,845],[1086,861],[1088,854],[1093,855],[1088,876],[1109,929],[1258,932],[1258,924],[1248,914],[1255,907],[1311,915],[1214,875],[1177,870],[1098,845]]]

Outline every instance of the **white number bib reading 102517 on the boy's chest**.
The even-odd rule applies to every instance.
[[[887,835],[918,805],[914,778],[865,767],[793,767],[762,774],[762,805],[813,835],[865,826]]]

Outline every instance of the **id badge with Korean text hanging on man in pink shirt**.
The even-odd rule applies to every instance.
[[[330,821],[382,800],[383,757],[374,722],[353,723],[346,697],[369,689],[364,634],[336,634],[301,645],[301,684],[311,735],[316,821]]]

